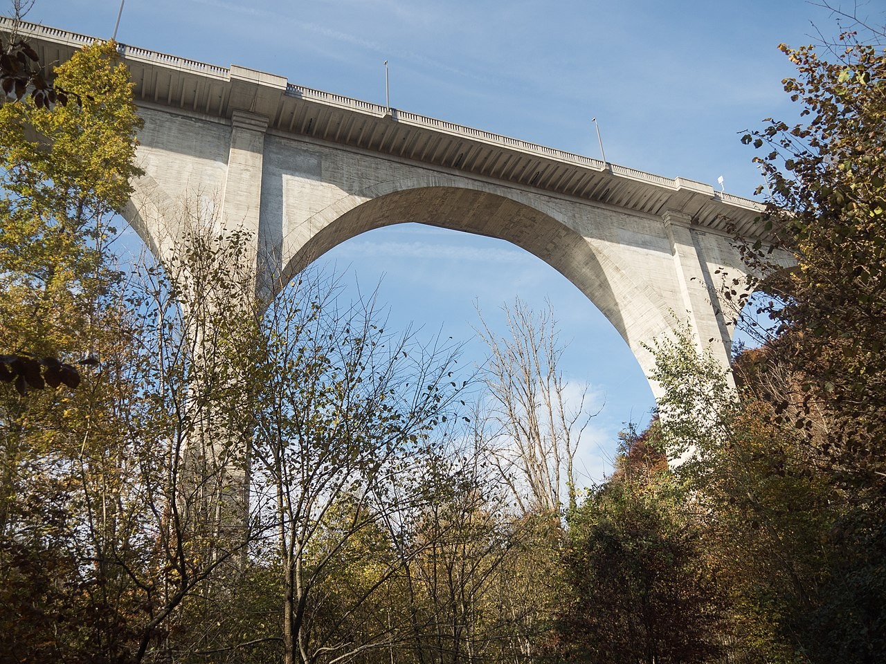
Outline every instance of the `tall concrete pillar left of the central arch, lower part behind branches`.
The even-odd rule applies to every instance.
[[[190,407],[198,426],[188,441],[188,466],[202,489],[197,501],[200,518],[213,524],[216,547],[240,550],[235,562],[245,560],[246,554],[252,432],[245,403],[248,381],[236,368],[247,360],[239,357],[238,344],[229,337],[236,339],[248,330],[259,309],[259,219],[267,128],[266,116],[234,111],[221,209],[210,235],[191,238],[203,247],[202,258],[214,274],[211,283],[199,286],[205,295],[193,298],[200,312],[191,330],[198,379]],[[189,272],[188,278],[193,281],[195,275]],[[206,275],[196,276],[201,278]],[[246,342],[239,350],[248,347]]]

